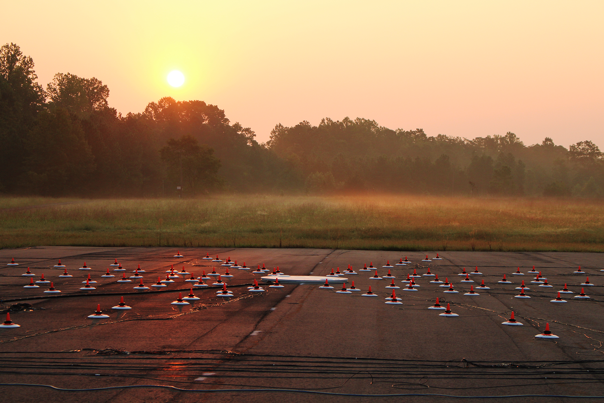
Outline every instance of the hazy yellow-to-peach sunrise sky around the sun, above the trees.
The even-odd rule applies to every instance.
[[[1,1],[0,42],[141,112],[199,99],[250,126],[364,117],[604,148],[604,1]],[[171,70],[185,75],[172,88]]]

